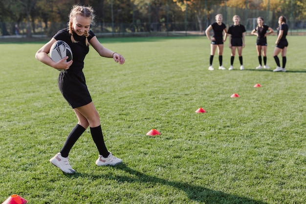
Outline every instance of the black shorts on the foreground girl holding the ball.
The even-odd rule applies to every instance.
[[[85,106],[92,101],[83,71],[61,71],[58,87],[73,109]]]

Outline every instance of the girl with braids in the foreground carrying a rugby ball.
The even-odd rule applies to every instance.
[[[69,151],[88,126],[99,151],[96,165],[115,165],[122,162],[121,159],[114,157],[105,146],[99,113],[91,100],[82,70],[85,56],[89,51],[89,44],[100,56],[113,58],[115,62],[121,65],[124,64],[125,59],[122,55],[100,44],[95,34],[89,30],[90,23],[93,20],[94,11],[91,7],[74,5],[69,14],[69,27],[60,30],[35,55],[39,61],[52,68],[64,69],[59,74],[58,87],[78,118],[78,124],[68,135],[61,151],[50,159],[53,165],[68,174],[75,173],[75,170],[68,161]],[[47,55],[52,44],[57,40],[62,40],[70,46],[73,56],[72,60],[66,62],[68,57],[65,57],[56,63]]]

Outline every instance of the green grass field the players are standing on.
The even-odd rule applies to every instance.
[[[91,47],[84,72],[107,147],[124,163],[97,167],[87,129],[69,155],[74,175],[49,163],[77,119],[59,72],[34,57],[44,42],[0,44],[0,202],[305,204],[306,37],[288,37],[282,73],[272,72],[275,40],[269,70],[255,69],[256,37],[247,36],[245,70],[236,56],[234,70],[209,71],[205,37],[100,39],[126,64]],[[146,136],[151,129],[161,135]]]

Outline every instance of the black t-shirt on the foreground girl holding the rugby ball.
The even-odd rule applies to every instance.
[[[71,37],[69,34],[69,29],[65,28],[60,31],[58,31],[53,38],[55,38],[57,41],[62,40],[66,42],[72,51],[72,60],[73,63],[70,66],[69,70],[82,70],[84,68],[84,59],[87,53],[89,52],[89,47],[86,45],[86,37],[84,35],[78,36],[76,33],[73,33],[74,40],[77,41],[77,43],[71,42]],[[87,40],[90,41],[91,38],[95,36],[95,34],[89,30],[88,31],[89,36],[87,37]]]

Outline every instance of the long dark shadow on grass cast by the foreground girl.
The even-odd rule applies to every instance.
[[[211,190],[199,185],[193,185],[192,183],[181,182],[181,181],[169,181],[165,179],[160,179],[154,176],[148,176],[144,173],[131,169],[126,164],[118,164],[114,166],[116,169],[123,170],[131,175],[128,176],[113,176],[109,179],[117,180],[120,182],[143,182],[143,183],[158,183],[162,185],[172,186],[178,190],[184,191],[188,198],[197,201],[203,202],[205,204],[267,204],[262,201],[256,201],[245,197],[240,197],[236,195],[231,195],[223,193],[221,191]],[[68,175],[67,175],[68,176]],[[71,177],[87,176],[82,173],[76,173],[70,175]],[[136,176],[136,177],[135,177]],[[96,179],[106,179],[105,175],[90,175],[90,177]]]

